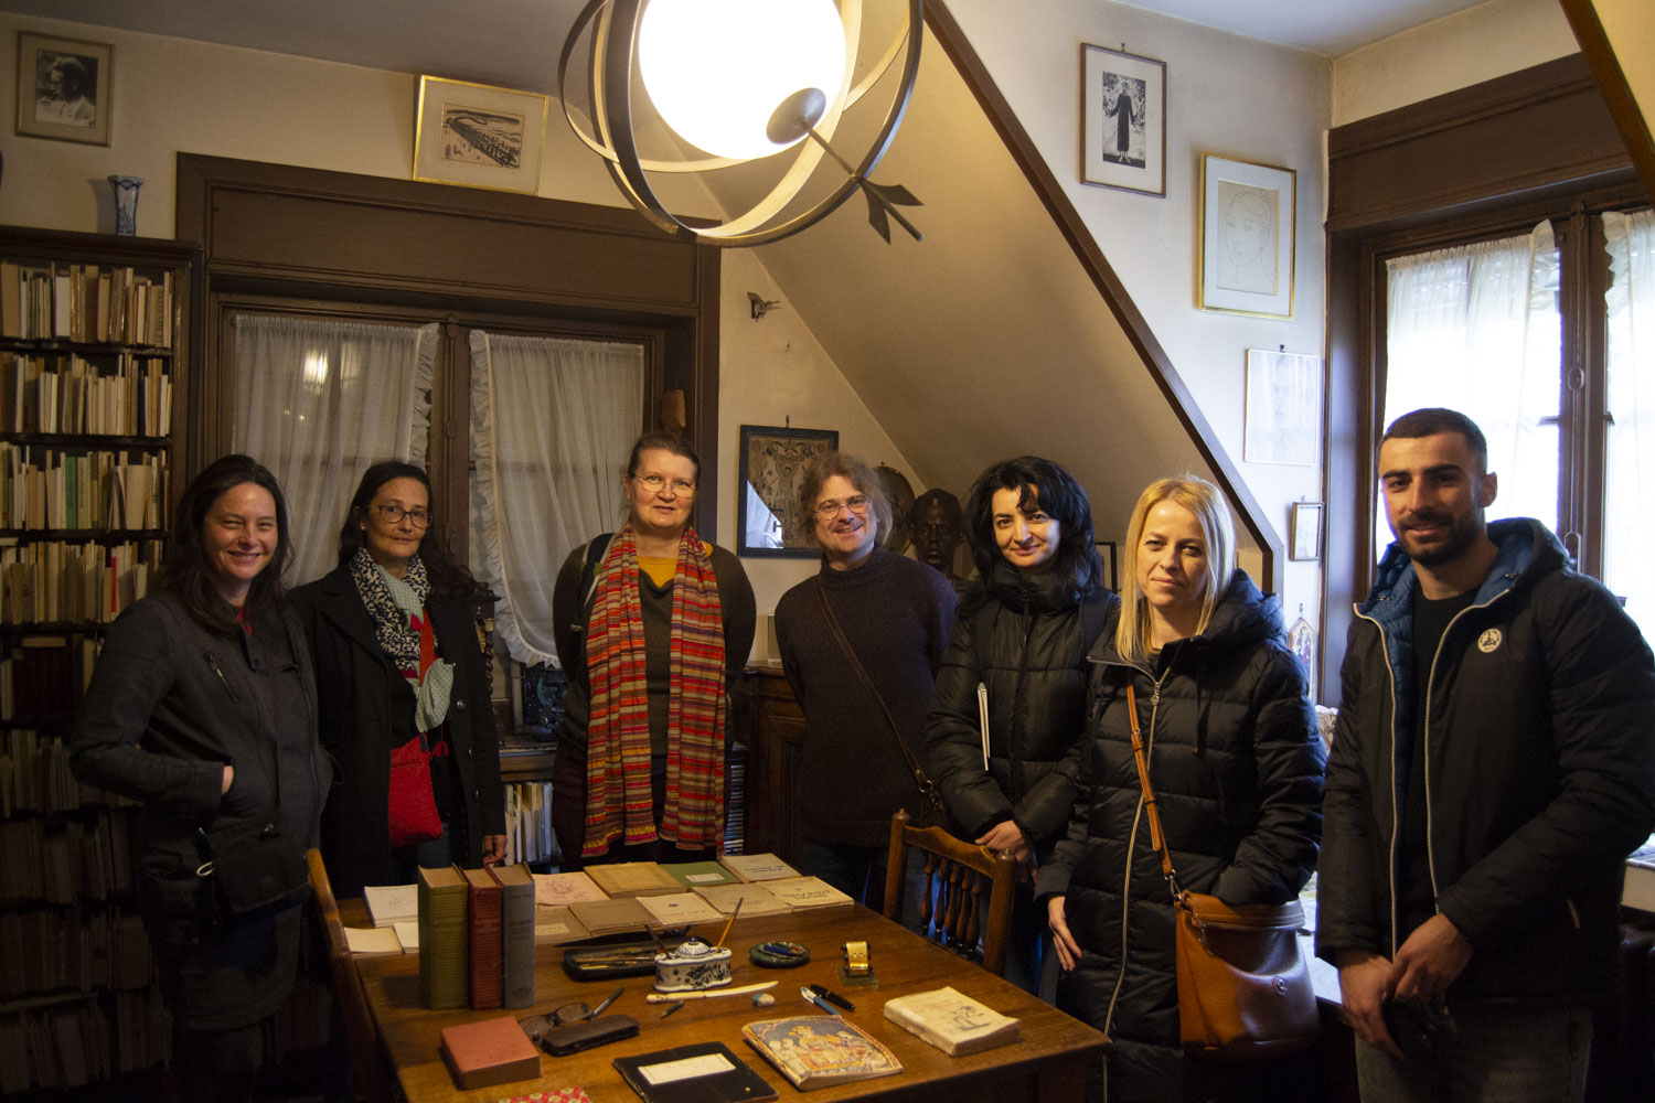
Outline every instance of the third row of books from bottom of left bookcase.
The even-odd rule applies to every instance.
[[[73,905],[131,891],[131,814],[122,805],[0,820],[0,900]]]

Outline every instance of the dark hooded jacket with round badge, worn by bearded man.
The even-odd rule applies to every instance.
[[[1475,946],[1450,999],[1585,1002],[1614,987],[1625,855],[1655,820],[1655,660],[1614,595],[1529,519],[1496,521],[1443,633],[1425,726],[1437,908]],[[1327,769],[1316,949],[1390,957],[1392,785],[1413,739],[1413,566],[1392,546],[1350,622]]]

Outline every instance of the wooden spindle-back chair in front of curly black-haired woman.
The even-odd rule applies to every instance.
[[[940,827],[909,827],[909,814],[899,809],[890,817],[890,860],[885,868],[885,918],[899,923],[909,848],[925,855],[920,934],[980,961],[995,976],[1005,976],[1011,898],[1018,881],[1018,862],[1011,852],[962,842]],[[985,898],[986,923],[980,919]]]

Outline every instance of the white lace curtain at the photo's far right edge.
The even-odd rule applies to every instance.
[[[1655,212],[1604,215],[1609,245],[1609,466],[1604,584],[1655,640]],[[1648,432],[1645,432],[1648,430]]]

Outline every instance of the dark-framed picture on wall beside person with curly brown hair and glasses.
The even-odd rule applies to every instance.
[[[741,501],[736,506],[738,556],[814,559],[816,519],[799,509],[804,465],[839,450],[839,430],[741,427]]]

